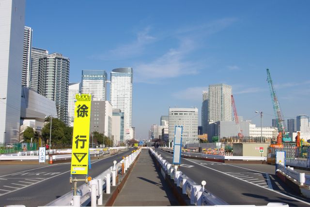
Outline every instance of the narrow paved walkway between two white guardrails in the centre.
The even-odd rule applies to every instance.
[[[159,177],[148,149],[141,151],[113,206],[178,206],[163,177]]]

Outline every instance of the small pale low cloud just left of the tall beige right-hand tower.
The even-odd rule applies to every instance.
[[[173,93],[172,96],[176,99],[202,101],[202,91],[207,90],[208,87],[190,87],[185,90]]]

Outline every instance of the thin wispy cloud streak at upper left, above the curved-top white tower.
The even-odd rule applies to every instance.
[[[150,27],[137,33],[137,38],[132,43],[119,45],[106,53],[94,55],[92,58],[101,60],[119,60],[139,56],[148,44],[153,43],[156,38],[149,34]]]

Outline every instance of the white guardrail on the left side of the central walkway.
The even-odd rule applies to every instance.
[[[67,192],[56,200],[48,203],[46,206],[74,206],[80,207],[87,205],[91,201],[91,206],[102,205],[103,203],[103,189],[106,189],[106,193],[110,193],[110,185],[116,185],[116,175],[122,171],[122,163],[124,163],[124,172],[127,172],[128,167],[136,160],[141,149],[131,153],[128,157],[125,157],[119,163],[114,161],[114,166],[101,173],[99,176],[94,177],[89,183],[85,183],[78,187],[76,196],[73,195],[73,191]]]

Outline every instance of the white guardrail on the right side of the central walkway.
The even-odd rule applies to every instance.
[[[151,153],[155,156],[158,163],[161,165],[161,174],[165,177],[166,174],[173,177],[177,187],[182,189],[182,193],[186,194],[190,199],[191,205],[196,206],[216,206],[216,207],[255,207],[254,205],[228,205],[225,201],[218,198],[211,192],[204,189],[206,182],[203,180],[202,185],[197,184],[192,179],[187,177],[181,171],[178,171],[178,166],[168,163],[160,154],[155,152],[154,149],[150,148]],[[268,203],[264,207],[289,207],[288,204],[284,203]]]

